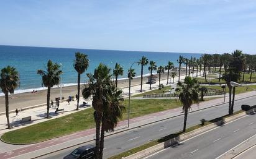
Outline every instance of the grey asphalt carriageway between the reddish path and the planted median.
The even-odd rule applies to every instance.
[[[222,99],[221,99],[222,100]],[[240,110],[240,105],[255,105],[255,97],[250,97],[245,100],[235,101],[234,111]],[[199,120],[204,118],[206,120],[214,119],[219,116],[224,116],[228,112],[228,105],[220,105],[214,108],[209,108],[206,110],[196,111],[194,113],[188,114],[188,124],[187,127],[199,124]],[[129,150],[130,148],[137,147],[139,145],[149,142],[149,140],[159,139],[165,135],[178,132],[183,127],[183,116],[178,116],[176,118],[167,119],[165,121],[157,122],[155,124],[150,124],[149,126],[143,126],[131,131],[122,132],[121,134],[111,135],[105,138],[105,149],[104,158],[111,157],[118,153]],[[255,132],[255,131],[254,131]],[[218,134],[218,132],[215,132]],[[94,142],[88,142],[88,144],[94,144]],[[78,145],[76,147],[80,147]],[[49,155],[45,155],[40,158],[63,158],[68,155],[76,147],[66,148]],[[178,148],[177,148],[178,149]],[[197,148],[195,148],[197,149]],[[162,158],[162,157],[161,157]],[[169,157],[170,158],[170,157]]]

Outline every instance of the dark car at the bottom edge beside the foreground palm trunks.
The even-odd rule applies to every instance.
[[[82,147],[78,147],[73,152],[71,152],[69,155],[65,156],[63,159],[73,159],[73,158],[79,158],[79,159],[87,159],[87,158],[94,158],[95,147],[93,145],[86,145]]]

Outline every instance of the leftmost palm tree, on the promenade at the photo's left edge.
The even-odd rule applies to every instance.
[[[18,85],[19,72],[16,71],[16,68],[11,66],[4,67],[1,70],[0,87],[6,99],[6,119],[8,129],[12,128],[9,121],[9,93],[13,94]]]

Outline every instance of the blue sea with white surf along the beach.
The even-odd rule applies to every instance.
[[[88,78],[86,73],[93,73],[99,63],[106,64],[111,69],[119,63],[124,68],[124,74],[119,79],[127,79],[127,72],[131,64],[139,61],[145,56],[149,61],[155,61],[157,66],[166,66],[171,61],[178,66],[177,59],[179,56],[185,58],[199,58],[201,53],[169,53],[169,52],[149,52],[149,51],[117,51],[103,49],[76,49],[76,48],[47,48],[32,46],[4,46],[0,45],[0,69],[6,66],[16,67],[19,72],[20,85],[16,88],[15,93],[31,92],[32,90],[42,90],[42,78],[37,74],[38,69],[45,69],[47,61],[62,64],[62,85],[76,85],[77,72],[73,67],[75,53],[88,54],[89,67],[81,75],[81,83],[85,83]],[[144,67],[144,75],[149,75],[148,66]],[[140,66],[134,64],[136,76],[140,76]],[[60,85],[56,86],[60,87]],[[3,93],[0,93],[3,95]]]

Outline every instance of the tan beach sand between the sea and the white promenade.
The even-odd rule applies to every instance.
[[[184,74],[184,72],[181,72]],[[158,76],[158,75],[157,75]],[[161,75],[161,80],[167,79],[167,72]],[[143,83],[147,82],[147,77],[143,78]],[[169,79],[170,81],[170,79]],[[158,82],[158,78],[157,78]],[[131,85],[140,84],[140,77],[134,78]],[[118,80],[119,88],[129,87],[129,79]],[[81,85],[83,88],[83,85]],[[77,85],[62,87],[62,96],[68,98],[68,96],[74,96],[77,94]],[[81,93],[80,93],[81,94]],[[51,88],[50,100],[55,101],[55,98],[60,97],[60,88]],[[47,90],[38,90],[37,93],[19,93],[14,95],[9,95],[9,111],[25,108],[28,106],[41,105],[47,102]],[[46,106],[45,106],[46,107]],[[0,112],[5,110],[5,98],[0,97]]]

